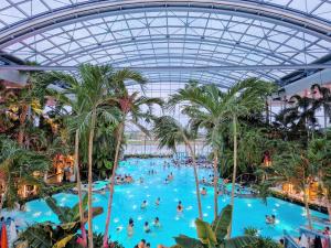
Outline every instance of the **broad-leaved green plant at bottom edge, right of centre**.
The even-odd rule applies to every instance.
[[[232,222],[232,209],[231,205],[225,206],[212,225],[196,218],[195,226],[199,239],[180,235],[174,238],[177,246],[181,248],[243,248],[255,244],[257,238],[252,236],[226,238]]]

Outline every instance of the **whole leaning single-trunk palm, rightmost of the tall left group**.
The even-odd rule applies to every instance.
[[[130,69],[122,69],[116,72],[111,77],[111,89],[115,93],[115,99],[110,99],[108,104],[115,105],[120,110],[120,118],[118,126],[115,131],[116,138],[116,149],[115,149],[115,159],[114,166],[111,171],[111,176],[109,179],[109,200],[107,206],[107,217],[104,233],[104,246],[108,246],[108,229],[111,217],[111,205],[115,187],[115,175],[119,161],[120,144],[124,138],[124,131],[127,123],[136,126],[142,132],[148,134],[148,130],[139,123],[140,120],[150,121],[152,116],[152,105],[162,106],[163,101],[160,98],[148,98],[145,96],[139,96],[138,91],[129,94],[126,88],[125,80],[135,80],[136,83],[143,85],[146,79],[137,72]],[[142,107],[147,106],[148,110],[143,111]]]

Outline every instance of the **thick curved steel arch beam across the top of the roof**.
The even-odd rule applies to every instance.
[[[18,41],[29,36],[36,35],[44,31],[63,26],[73,22],[100,18],[105,14],[129,13],[137,11],[148,11],[149,9],[178,8],[213,11],[215,13],[236,14],[246,18],[267,20],[275,24],[289,26],[291,29],[310,33],[323,40],[331,41],[331,28],[329,23],[324,23],[317,19],[309,19],[303,14],[296,13],[288,9],[276,8],[271,6],[258,4],[245,1],[225,1],[225,0],[125,0],[125,1],[92,1],[82,4],[73,4],[72,7],[54,10],[51,13],[44,13],[33,17],[26,21],[14,24],[11,28],[0,32],[0,48],[3,48]]]

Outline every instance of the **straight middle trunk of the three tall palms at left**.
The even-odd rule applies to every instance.
[[[92,162],[93,162],[93,139],[94,139],[94,129],[96,122],[96,108],[94,107],[92,110],[92,119],[90,119],[90,127],[89,127],[89,137],[88,137],[88,248],[93,248],[93,208],[92,208],[92,185],[93,185],[93,175],[92,175]]]

